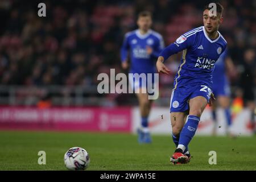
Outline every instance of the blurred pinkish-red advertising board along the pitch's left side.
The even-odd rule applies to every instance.
[[[0,107],[0,129],[131,131],[130,107]]]

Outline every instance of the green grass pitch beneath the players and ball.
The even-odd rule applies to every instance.
[[[63,133],[0,131],[0,170],[67,170],[68,148],[80,146],[90,155],[86,170],[256,170],[256,137],[194,137],[189,164],[169,162],[174,143],[167,135],[153,135],[152,144],[138,144],[137,136],[119,133]],[[38,164],[46,152],[46,165]],[[210,165],[209,151],[217,152]]]

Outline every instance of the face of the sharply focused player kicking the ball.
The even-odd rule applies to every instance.
[[[208,34],[212,34],[213,32],[218,31],[218,27],[223,21],[223,18],[219,13],[217,13],[217,16],[213,16],[213,15],[210,16],[209,10],[204,10],[203,19],[204,19],[204,28]]]

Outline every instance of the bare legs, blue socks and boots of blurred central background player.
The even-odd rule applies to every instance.
[[[145,88],[139,88],[139,93],[137,93],[137,98],[139,101],[139,110],[141,113],[141,131],[139,132],[139,142],[140,143],[150,143],[151,138],[148,129],[148,116],[150,114],[150,109],[152,105],[152,100],[148,100],[148,94],[144,93]]]

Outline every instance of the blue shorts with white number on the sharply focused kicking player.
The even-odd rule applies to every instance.
[[[212,90],[204,83],[193,83],[180,86],[172,91],[170,112],[184,112],[189,109],[188,101],[197,96],[210,100]]]

